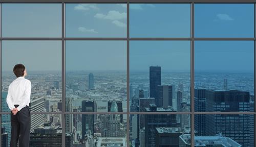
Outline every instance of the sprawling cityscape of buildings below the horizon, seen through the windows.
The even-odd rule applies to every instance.
[[[189,112],[190,73],[131,71],[131,112]],[[47,74],[46,74],[47,73]],[[60,112],[61,72],[30,72],[31,111]],[[214,81],[210,79],[215,79]],[[11,72],[3,72],[2,111]],[[244,81],[236,88],[237,80]],[[253,73],[195,73],[195,111],[253,111]],[[67,112],[127,112],[125,71],[67,71]],[[190,146],[189,114],[67,114],[66,146]],[[195,115],[195,146],[253,146],[253,115]],[[212,123],[214,122],[214,123]],[[206,124],[210,124],[207,127]],[[127,129],[130,144],[126,143]],[[10,115],[2,115],[2,143],[9,146]],[[61,146],[61,115],[32,114],[30,146]]]

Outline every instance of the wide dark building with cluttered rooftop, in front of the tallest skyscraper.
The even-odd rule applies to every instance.
[[[150,108],[145,108],[146,112],[174,112],[172,107],[160,108],[155,104],[150,104]],[[177,127],[176,114],[145,114],[145,146],[156,146],[157,127]]]

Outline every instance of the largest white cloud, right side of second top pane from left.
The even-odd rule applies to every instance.
[[[126,13],[120,13],[118,11],[112,10],[109,11],[109,13],[106,15],[102,13],[97,13],[94,17],[99,19],[120,20],[126,18]]]

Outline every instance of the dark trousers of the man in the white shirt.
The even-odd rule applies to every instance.
[[[18,107],[18,105],[14,105]],[[31,127],[30,110],[28,106],[20,109],[13,115],[11,112],[11,142],[10,147],[28,147]]]

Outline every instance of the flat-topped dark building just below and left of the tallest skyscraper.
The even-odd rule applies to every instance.
[[[150,107],[150,104],[156,104],[155,103],[155,98],[140,98],[139,99],[139,112],[145,112],[146,107]],[[144,115],[139,115],[139,129],[142,129],[145,127],[144,124]]]

